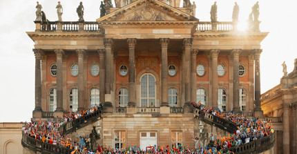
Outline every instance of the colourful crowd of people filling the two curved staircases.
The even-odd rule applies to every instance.
[[[101,154],[222,153],[222,149],[224,148],[231,148],[233,146],[249,143],[256,139],[266,137],[274,132],[274,130],[271,128],[271,124],[269,122],[265,122],[264,120],[258,118],[247,118],[231,112],[222,113],[219,109],[207,108],[203,104],[200,104],[200,102],[198,102],[197,104],[193,102],[192,104],[199,110],[233,122],[237,126],[236,132],[223,137],[219,133],[215,135],[211,134],[211,136],[209,137],[209,144],[207,146],[196,144],[198,143],[199,138],[195,137],[195,139],[193,139],[195,142],[195,149],[190,149],[189,146],[187,146],[187,148],[185,146],[184,148],[181,146],[172,149],[170,149],[169,146],[166,146],[166,148],[164,149],[163,146],[159,146],[158,148],[155,146],[146,150],[141,150],[140,148],[135,147],[118,149],[112,148],[111,146],[99,146],[99,144],[97,144],[96,149],[92,151],[92,148],[90,148],[89,136],[79,136],[80,141],[77,141],[75,139],[71,139],[69,135],[58,131],[59,126],[61,126],[62,124],[93,113],[96,110],[100,110],[102,108],[102,105],[91,106],[90,108],[88,108],[88,110],[77,110],[77,112],[64,113],[64,115],[62,115],[61,117],[57,117],[58,120],[55,122],[50,119],[46,121],[42,121],[41,119],[31,119],[31,122],[26,122],[23,125],[23,132],[34,139],[41,140],[42,142],[70,148],[73,150],[72,153]]]

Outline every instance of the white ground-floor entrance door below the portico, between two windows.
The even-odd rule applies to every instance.
[[[157,132],[140,132],[140,148],[145,151],[150,145],[157,145]]]

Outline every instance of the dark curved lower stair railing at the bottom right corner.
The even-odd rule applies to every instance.
[[[276,139],[276,133],[272,133],[267,137],[263,137],[261,139],[256,139],[247,144],[241,144],[239,146],[233,146],[231,148],[224,148],[222,151],[227,153],[231,151],[233,153],[262,153],[263,151],[267,151],[269,148],[274,146]]]

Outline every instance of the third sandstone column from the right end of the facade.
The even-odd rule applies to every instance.
[[[218,54],[220,49],[212,49],[211,50],[211,74],[212,78],[212,87],[211,93],[213,95],[211,100],[211,107],[218,108]]]

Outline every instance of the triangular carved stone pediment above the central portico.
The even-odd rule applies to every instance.
[[[162,1],[138,0],[97,21],[198,21],[198,19]]]

